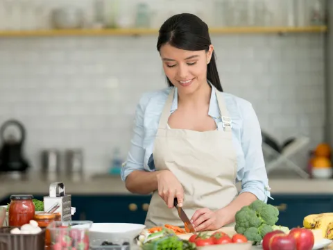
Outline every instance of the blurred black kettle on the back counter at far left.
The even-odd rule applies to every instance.
[[[21,138],[17,138],[15,133],[6,131],[10,126],[18,128]],[[0,128],[1,149],[0,149],[0,172],[26,172],[30,167],[28,160],[24,158],[23,146],[26,139],[26,131],[21,122],[10,119]]]

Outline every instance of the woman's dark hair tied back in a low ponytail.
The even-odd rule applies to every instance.
[[[160,51],[162,45],[167,43],[178,49],[188,51],[208,51],[210,44],[212,44],[207,24],[196,15],[188,13],[173,15],[162,24],[157,40],[157,50]],[[216,68],[214,51],[212,59],[207,65],[207,80],[217,90],[223,92]],[[173,86],[169,78],[167,78],[167,81],[169,86]]]

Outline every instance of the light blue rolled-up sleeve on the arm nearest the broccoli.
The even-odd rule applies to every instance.
[[[255,194],[257,199],[267,202],[271,192],[262,151],[262,133],[257,115],[250,103],[244,106],[242,116],[241,147],[244,151],[245,167],[240,193],[250,192]]]

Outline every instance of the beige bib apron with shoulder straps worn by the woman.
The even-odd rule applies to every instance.
[[[218,210],[237,196],[237,155],[222,94],[215,89],[220,114],[225,121],[218,124],[220,130],[198,132],[168,128],[174,92],[175,88],[171,90],[160,118],[153,157],[156,170],[169,169],[182,184],[183,209],[191,218],[199,208]],[[155,190],[145,225],[151,228],[164,224],[184,227],[176,208],[168,208]]]

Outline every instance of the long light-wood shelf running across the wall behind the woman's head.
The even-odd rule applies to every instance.
[[[309,27],[231,27],[210,28],[211,34],[232,33],[322,33],[326,26]],[[54,36],[102,36],[102,35],[157,35],[157,29],[78,29],[78,30],[46,30],[46,31],[0,31],[0,37],[54,37]]]

